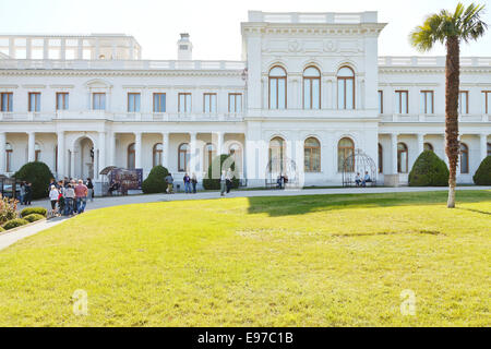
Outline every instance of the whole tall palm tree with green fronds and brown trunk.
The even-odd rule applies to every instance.
[[[459,155],[458,142],[458,94],[460,85],[460,43],[481,37],[488,25],[481,21],[484,5],[470,4],[467,9],[458,3],[454,13],[442,10],[431,14],[423,25],[410,34],[410,43],[426,52],[436,43],[446,45],[445,65],[445,153],[448,157],[448,208],[455,208],[456,172]]]

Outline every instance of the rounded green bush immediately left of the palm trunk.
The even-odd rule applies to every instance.
[[[448,168],[445,161],[431,151],[426,151],[416,160],[409,173],[410,186],[446,186]]]

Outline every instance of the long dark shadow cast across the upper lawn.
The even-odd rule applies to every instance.
[[[384,193],[384,194],[338,194],[310,196],[248,197],[249,214],[266,213],[272,217],[302,215],[311,212],[328,212],[348,208],[373,208],[417,205],[441,205],[445,207],[446,192]],[[457,192],[457,204],[491,202],[489,191]],[[490,215],[474,208],[460,209]],[[367,217],[366,217],[367,218]]]

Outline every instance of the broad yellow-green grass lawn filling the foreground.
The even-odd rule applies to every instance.
[[[0,251],[0,326],[490,326],[491,192],[166,202]],[[88,315],[72,294],[88,294]],[[416,293],[416,315],[400,292]]]

